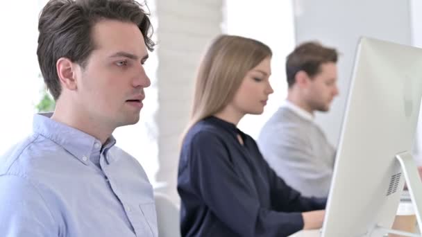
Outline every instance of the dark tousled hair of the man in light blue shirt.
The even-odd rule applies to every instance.
[[[146,7],[146,4],[144,4]],[[134,0],[50,0],[42,9],[37,56],[44,82],[54,100],[61,93],[56,70],[59,58],[85,67],[95,45],[93,26],[102,19],[132,22],[140,28],[146,47],[153,51],[153,29],[149,13]]]

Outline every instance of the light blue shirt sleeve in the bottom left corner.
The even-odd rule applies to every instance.
[[[58,233],[37,188],[24,177],[0,175],[0,236],[57,237]]]

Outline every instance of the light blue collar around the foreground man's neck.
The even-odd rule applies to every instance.
[[[88,164],[92,152],[96,150],[105,151],[115,145],[114,137],[109,137],[101,146],[101,141],[76,128],[71,128],[64,123],[50,119],[53,113],[35,114],[33,118],[33,131],[43,137],[51,139],[74,155],[83,164]]]

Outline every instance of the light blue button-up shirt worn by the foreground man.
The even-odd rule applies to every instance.
[[[153,188],[114,145],[36,114],[0,157],[0,236],[158,236]]]

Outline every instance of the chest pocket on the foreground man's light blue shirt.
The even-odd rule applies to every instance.
[[[130,222],[137,237],[158,237],[157,214],[153,202],[142,203],[131,212]]]

